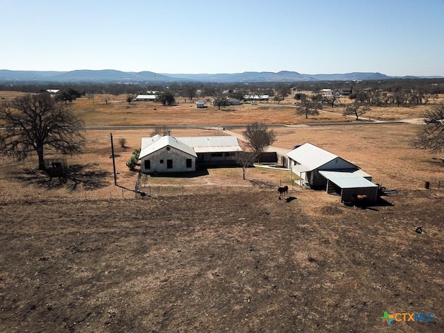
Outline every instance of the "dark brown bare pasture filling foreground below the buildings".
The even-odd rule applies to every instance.
[[[443,332],[442,202],[411,191],[361,210],[264,189],[3,204],[0,327]],[[384,311],[435,321],[388,326]]]

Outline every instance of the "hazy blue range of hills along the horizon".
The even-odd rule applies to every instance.
[[[155,83],[155,82],[207,82],[207,83],[291,83],[325,80],[387,80],[402,78],[381,73],[299,74],[296,71],[244,71],[234,74],[157,74],[152,71],[116,71],[114,69],[76,71],[10,71],[0,69],[0,83]],[[442,76],[404,76],[404,78],[442,78]]]

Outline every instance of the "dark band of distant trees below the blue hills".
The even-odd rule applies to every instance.
[[[214,96],[218,89],[227,92],[230,98],[241,99],[244,94],[266,94],[279,102],[292,91],[316,93],[321,89],[350,89],[351,96],[357,99],[371,99],[372,103],[413,103],[434,94],[444,94],[444,78],[389,79],[354,81],[309,81],[296,83],[178,83],[158,82],[148,84],[127,83],[0,83],[0,91],[17,91],[27,93],[45,92],[46,89],[75,89],[80,94],[146,94],[146,91],[163,92],[166,89],[174,96],[192,100],[203,96]],[[413,96],[411,92],[415,92]],[[373,92],[370,94],[370,92]],[[378,93],[381,92],[381,93]],[[382,92],[387,95],[384,96]],[[376,94],[376,95],[375,95]],[[382,96],[379,96],[379,95]],[[395,101],[394,95],[399,95]],[[373,102],[375,101],[375,102]]]

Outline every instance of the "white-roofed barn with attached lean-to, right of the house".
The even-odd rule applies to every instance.
[[[354,193],[377,200],[378,186],[371,182],[372,176],[329,151],[307,143],[287,153],[287,157],[288,167],[299,176],[300,185],[339,193],[341,201],[350,201]]]

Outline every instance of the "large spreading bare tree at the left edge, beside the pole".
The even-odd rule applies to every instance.
[[[26,94],[0,108],[0,153],[22,160],[35,151],[44,170],[44,151],[79,153],[83,121],[48,93]]]

